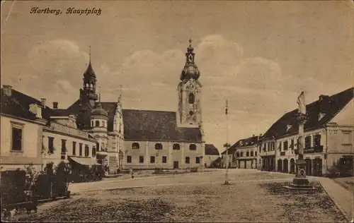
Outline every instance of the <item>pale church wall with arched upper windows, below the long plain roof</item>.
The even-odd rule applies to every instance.
[[[139,143],[139,150],[132,149],[132,143]],[[161,143],[162,150],[155,150],[155,144]],[[150,169],[155,167],[173,168],[173,162],[178,162],[180,169],[187,167],[203,167],[203,159],[200,164],[195,164],[195,157],[204,156],[204,146],[202,143],[179,143],[180,150],[173,150],[173,144],[178,142],[156,142],[156,141],[130,141],[124,142],[124,164],[126,168]],[[196,150],[189,150],[189,145],[195,144]],[[158,157],[156,157],[156,153]],[[132,163],[127,163],[127,156],[132,156]],[[144,163],[139,163],[139,156],[144,156]],[[155,162],[150,163],[150,156],[155,156]],[[162,163],[162,156],[166,156],[166,163]],[[185,157],[190,157],[190,164],[185,164]]]

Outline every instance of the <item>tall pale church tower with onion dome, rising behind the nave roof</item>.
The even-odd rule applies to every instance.
[[[192,40],[189,42],[185,53],[185,66],[180,76],[181,82],[178,84],[178,119],[181,126],[195,128],[202,124],[202,85],[198,80],[200,71],[194,62]]]

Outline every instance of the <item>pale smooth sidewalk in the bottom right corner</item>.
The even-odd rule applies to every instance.
[[[354,215],[354,194],[347,191],[332,179],[319,177],[317,180],[321,183],[329,197],[346,214],[348,220],[353,219]]]

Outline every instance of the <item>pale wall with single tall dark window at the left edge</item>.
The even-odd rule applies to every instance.
[[[21,152],[11,152],[12,130],[11,123],[18,123],[23,126],[22,148]],[[42,157],[40,155],[40,137],[42,135],[42,126],[31,121],[14,119],[1,115],[1,167],[17,168],[30,163],[40,167]]]

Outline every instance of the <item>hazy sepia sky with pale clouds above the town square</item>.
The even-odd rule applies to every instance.
[[[309,104],[353,87],[353,26],[353,1],[1,1],[1,85],[69,107],[91,46],[102,101],[122,85],[124,109],[177,111],[191,39],[205,140],[223,151],[297,109],[302,90]]]

